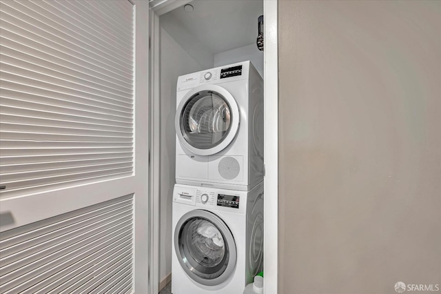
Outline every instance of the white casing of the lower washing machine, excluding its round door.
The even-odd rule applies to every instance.
[[[183,193],[196,195],[194,203],[176,201]],[[232,233],[236,265],[223,282],[207,286],[196,282],[197,279],[184,271],[176,246],[173,246],[172,293],[243,293],[246,284],[252,282],[254,275],[263,268],[263,182],[249,192],[176,184],[173,199],[173,244],[176,244],[176,231],[182,227],[177,225],[183,217],[189,214],[197,216],[200,211],[203,212],[201,215],[211,213],[219,217]]]

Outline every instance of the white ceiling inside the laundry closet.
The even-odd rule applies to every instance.
[[[187,12],[183,7],[164,14],[213,54],[256,43],[258,17],[263,14],[263,0],[194,0]]]

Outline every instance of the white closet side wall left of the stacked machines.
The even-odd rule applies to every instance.
[[[209,65],[211,67],[212,64]],[[161,28],[161,218],[159,282],[172,272],[172,192],[175,183],[176,81],[178,76],[203,70],[188,53]]]

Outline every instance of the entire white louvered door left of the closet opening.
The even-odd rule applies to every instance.
[[[147,293],[147,1],[0,3],[0,293]]]

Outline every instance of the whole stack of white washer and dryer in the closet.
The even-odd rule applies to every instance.
[[[172,293],[243,293],[263,269],[263,79],[194,72],[176,99]]]

